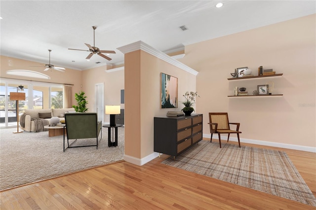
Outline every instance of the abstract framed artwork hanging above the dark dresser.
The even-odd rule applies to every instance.
[[[161,73],[161,108],[178,108],[178,78]]]

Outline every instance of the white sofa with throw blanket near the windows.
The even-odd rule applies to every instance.
[[[65,120],[66,112],[74,112],[75,108],[45,108],[45,109],[25,109],[24,131],[35,132],[35,122],[31,119],[44,118],[50,121],[51,117],[59,117],[60,120]]]

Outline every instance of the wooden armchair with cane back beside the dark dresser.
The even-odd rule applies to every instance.
[[[237,134],[238,144],[240,147],[240,140],[239,140],[239,134],[241,134],[241,132],[239,131],[240,123],[230,123],[228,120],[228,113],[227,112],[209,112],[208,116],[209,116],[209,123],[208,124],[209,124],[209,129],[211,132],[210,142],[212,142],[213,134],[218,134],[219,146],[220,146],[220,148],[222,148],[221,134],[228,134],[227,142],[229,140],[230,134]],[[231,128],[230,128],[231,124],[237,126],[236,131],[231,130]]]

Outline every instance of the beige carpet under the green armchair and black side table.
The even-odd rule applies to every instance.
[[[0,129],[0,190],[123,160],[124,127],[118,128],[117,147],[108,147],[108,129],[102,128],[98,149],[78,147],[65,152],[63,136],[13,131],[16,128]]]

